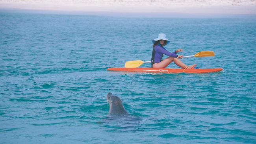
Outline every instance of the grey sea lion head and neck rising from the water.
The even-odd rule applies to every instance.
[[[122,105],[122,101],[118,96],[112,95],[111,92],[107,94],[109,102],[109,114],[125,114],[127,113]]]

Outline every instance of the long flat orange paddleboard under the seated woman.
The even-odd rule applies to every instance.
[[[209,69],[181,69],[181,68],[108,68],[110,71],[124,71],[124,72],[150,72],[150,73],[210,73],[220,72],[222,68],[209,68]]]

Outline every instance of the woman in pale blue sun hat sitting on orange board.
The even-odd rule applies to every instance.
[[[196,64],[187,66],[180,59],[182,59],[183,55],[177,55],[178,52],[183,52],[182,49],[175,50],[173,53],[167,51],[163,46],[169,44],[170,40],[166,38],[166,35],[160,33],[158,38],[152,40],[153,44],[153,51],[152,51],[152,58],[151,58],[151,67],[152,68],[165,68],[171,62],[174,62],[177,66],[185,69],[193,69]],[[163,54],[169,56],[163,61],[161,61]]]

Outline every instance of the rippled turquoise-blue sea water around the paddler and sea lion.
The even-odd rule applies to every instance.
[[[151,40],[210,74],[109,72]],[[0,143],[256,143],[256,19],[0,12]],[[141,67],[150,67],[143,64]],[[178,68],[173,63],[168,68]],[[108,92],[128,116],[108,115]]]

